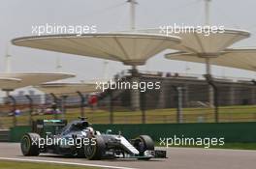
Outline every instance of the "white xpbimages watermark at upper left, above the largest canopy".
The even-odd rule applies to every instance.
[[[41,25],[32,25],[32,35],[57,35],[57,34],[82,34],[97,33],[96,25],[64,25],[56,23],[45,23]]]

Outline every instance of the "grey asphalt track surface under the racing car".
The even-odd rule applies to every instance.
[[[168,148],[169,158],[142,161],[137,159],[112,159],[91,161],[83,158],[67,158],[61,155],[23,156],[19,144],[0,143],[0,159],[32,160],[64,164],[102,166],[119,169],[255,169],[256,151]],[[81,167],[82,168],[82,167]]]

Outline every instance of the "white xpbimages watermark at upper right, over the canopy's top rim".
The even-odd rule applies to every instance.
[[[174,24],[174,25],[161,25],[159,26],[159,33],[165,36],[172,36],[176,34],[188,34],[188,33],[198,33],[203,34],[204,36],[208,37],[209,34],[216,34],[216,33],[224,33],[225,27],[224,26],[217,26],[217,25],[198,25],[198,26],[187,26],[182,24]]]

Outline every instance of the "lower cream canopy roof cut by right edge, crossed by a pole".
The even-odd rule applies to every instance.
[[[166,54],[166,58],[178,61],[205,63],[206,59],[195,53],[175,52]],[[231,67],[242,70],[256,70],[256,49],[226,49],[218,57],[210,59],[211,65]]]

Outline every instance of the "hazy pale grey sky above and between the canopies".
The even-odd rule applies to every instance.
[[[138,0],[136,27],[152,28],[159,25],[202,25],[204,23],[204,0]],[[212,0],[210,23],[226,28],[240,28],[252,36],[236,43],[236,46],[256,46],[256,1]],[[0,5],[0,70],[4,70],[4,56],[10,40],[31,36],[32,25],[46,23],[66,25],[96,25],[100,31],[128,29],[129,4],[125,0],[1,0]],[[26,47],[9,46],[14,71],[55,71],[56,58],[61,59],[62,71],[76,73],[72,81],[102,78],[104,60],[69,54],[61,54]],[[166,60],[162,52],[149,59],[141,70],[162,70],[205,73],[201,64]],[[129,67],[109,62],[110,76]],[[255,77],[246,70],[214,67],[213,74]]]

